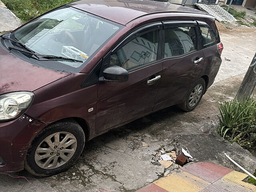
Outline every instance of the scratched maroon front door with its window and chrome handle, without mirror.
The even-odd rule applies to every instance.
[[[96,133],[153,110],[162,75],[161,44],[158,43],[161,27],[161,23],[144,27],[106,56],[102,70],[121,66],[129,72],[129,80],[98,84]]]

